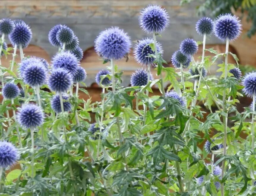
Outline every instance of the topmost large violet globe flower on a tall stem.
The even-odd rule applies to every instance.
[[[161,33],[169,25],[169,15],[158,5],[148,5],[141,10],[139,26],[148,34]]]

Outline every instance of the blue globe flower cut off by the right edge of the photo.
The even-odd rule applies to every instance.
[[[242,80],[242,85],[244,86],[244,93],[248,97],[252,97],[256,93],[256,72],[246,74]]]

